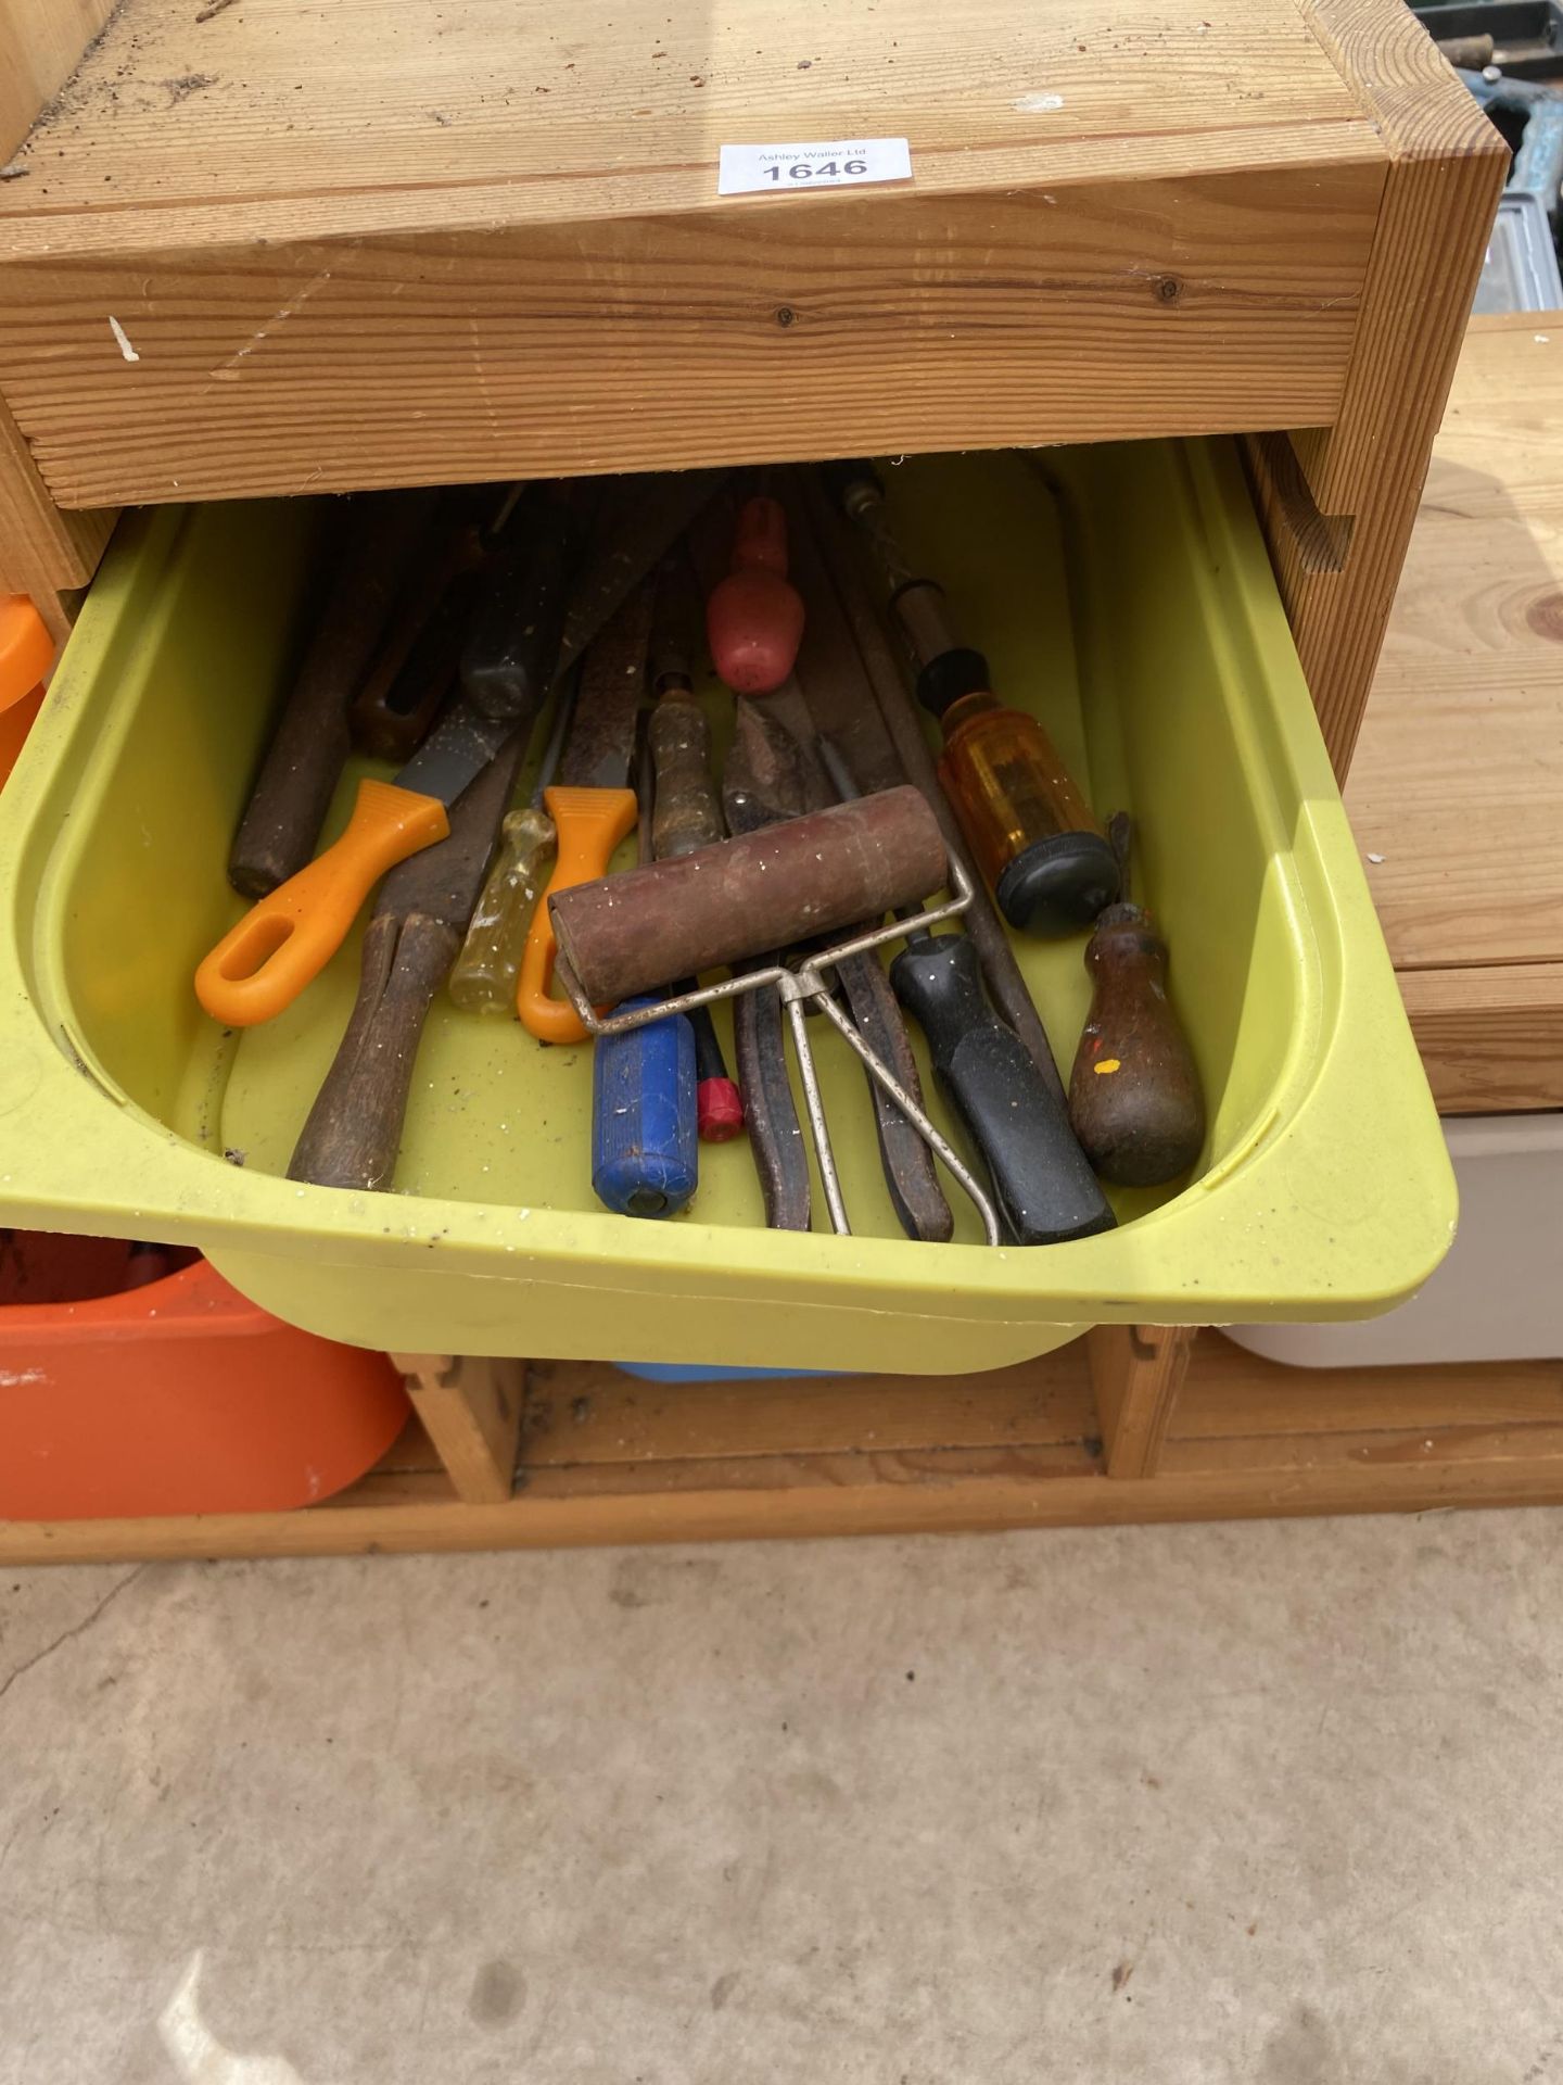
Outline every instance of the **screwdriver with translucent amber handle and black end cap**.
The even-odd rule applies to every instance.
[[[1025,934],[1088,928],[1117,899],[1119,867],[1057,746],[990,688],[988,661],[961,644],[944,590],[907,563],[869,463],[825,465],[842,513],[869,546],[917,663],[917,698],[940,719],[940,784],[998,909]]]

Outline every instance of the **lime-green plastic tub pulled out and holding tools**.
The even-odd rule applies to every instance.
[[[1211,1101],[1188,1184],[1042,1251],[984,1249],[952,1193],[957,1243],[911,1245],[861,1074],[823,1034],[857,1236],[767,1232],[742,1143],[702,1151],[686,1218],[634,1222],[592,1197],[588,1051],[442,1003],[398,1193],[294,1186],[356,947],[244,1034],[190,984],[240,913],[223,861],[308,575],[311,507],[265,502],[123,525],[6,792],[4,1220],[198,1245],[306,1330],[467,1353],[946,1372],[1098,1320],[1405,1297],[1448,1245],[1453,1178],[1236,459],[1134,444],[1044,471],[932,459],[890,484],[996,686],[1098,811],[1136,815]],[[1067,1070],[1082,942],[1021,953]]]

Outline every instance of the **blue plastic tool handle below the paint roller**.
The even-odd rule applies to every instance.
[[[625,999],[615,1013],[656,1005]],[[648,1022],[592,1047],[592,1186],[619,1216],[677,1216],[700,1178],[694,1028]]]

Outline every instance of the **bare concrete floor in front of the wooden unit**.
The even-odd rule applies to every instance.
[[[1563,2085],[1563,1516],[0,1580],[4,2085]]]

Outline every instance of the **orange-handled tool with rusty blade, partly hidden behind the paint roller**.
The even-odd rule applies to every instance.
[[[552,997],[556,942],[548,899],[606,876],[615,847],[634,830],[638,803],[629,780],[650,617],[652,588],[642,584],[588,651],[559,782],[542,796],[559,832],[559,857],[531,915],[515,995],[521,1026],[540,1042],[586,1042],[575,1009]]]

